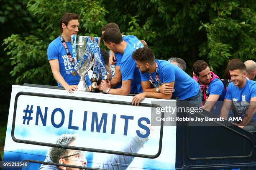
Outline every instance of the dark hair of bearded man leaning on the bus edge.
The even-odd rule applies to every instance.
[[[141,62],[147,62],[147,63],[153,63],[155,61],[155,55],[154,52],[147,47],[142,47],[133,52],[133,60],[141,61]]]

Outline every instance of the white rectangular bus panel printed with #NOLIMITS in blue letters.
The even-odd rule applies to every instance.
[[[146,139],[151,134],[150,107],[69,99],[58,99],[56,103],[51,97],[26,96],[25,100],[25,96],[20,95],[15,114],[14,136],[19,140],[53,144],[52,139],[68,133],[84,138],[85,143],[78,147],[121,151],[121,146],[134,136]],[[155,126],[145,144],[150,145],[151,150],[141,150],[141,154],[156,155],[159,139],[160,126]],[[133,150],[126,152],[133,153]]]

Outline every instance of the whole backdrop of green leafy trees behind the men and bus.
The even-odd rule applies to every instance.
[[[47,47],[60,35],[64,13],[80,15],[80,35],[101,36],[103,25],[117,23],[123,34],[145,40],[158,59],[183,58],[189,75],[196,60],[207,61],[220,77],[230,59],[255,60],[255,0],[1,0],[1,4],[1,150],[11,85],[56,85]]]

